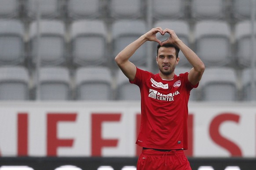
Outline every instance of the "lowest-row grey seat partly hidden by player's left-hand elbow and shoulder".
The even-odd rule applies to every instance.
[[[140,100],[140,91],[137,85],[129,82],[129,79],[124,75],[121,70],[117,71],[117,100]]]

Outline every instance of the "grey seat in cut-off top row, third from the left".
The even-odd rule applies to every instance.
[[[100,0],[68,0],[68,16],[73,19],[97,18],[102,15]]]

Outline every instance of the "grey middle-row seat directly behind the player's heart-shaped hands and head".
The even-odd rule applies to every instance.
[[[161,21],[157,21],[154,24],[154,28],[156,27],[161,27],[162,29],[165,28],[170,28],[172,30],[174,30],[176,32],[176,34],[178,35],[179,39],[181,39],[183,41],[183,43],[185,43],[187,46],[190,46],[190,28],[189,25],[186,21],[182,21],[182,20],[161,20]],[[160,33],[157,34],[157,39],[159,39],[160,41],[163,41],[165,39],[167,39],[169,37],[169,35],[165,35],[162,36]],[[157,43],[156,43],[157,46]],[[180,51],[179,52],[179,66],[189,66],[189,62],[187,61],[186,57],[184,56],[184,54]]]

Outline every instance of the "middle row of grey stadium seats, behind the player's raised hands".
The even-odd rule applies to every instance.
[[[74,21],[67,29],[62,21],[42,20],[38,42],[37,22],[29,28],[19,20],[0,20],[0,64],[35,65],[37,56],[42,66],[113,66],[113,59],[125,46],[147,32],[141,20],[118,20],[110,29],[102,20]],[[241,21],[231,29],[225,21],[198,21],[193,28],[183,20],[161,20],[154,27],[172,28],[208,67],[248,67],[252,56],[251,23]],[[256,29],[256,28],[255,28]],[[232,36],[234,35],[234,36]],[[166,36],[157,35],[160,40]],[[157,45],[156,43],[154,44]],[[39,46],[39,48],[37,48]],[[155,48],[155,47],[154,47]],[[136,51],[131,61],[146,66],[154,60],[155,50],[147,56],[147,46]],[[39,52],[38,52],[39,51]],[[189,66],[180,53],[180,66]]]

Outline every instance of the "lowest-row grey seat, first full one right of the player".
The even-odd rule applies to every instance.
[[[238,100],[237,77],[229,67],[211,67],[205,69],[200,82],[204,101]]]

